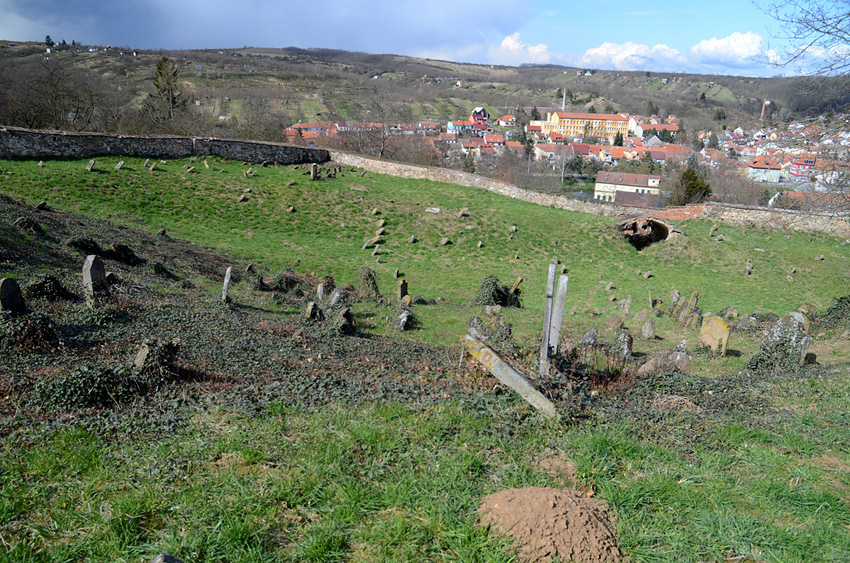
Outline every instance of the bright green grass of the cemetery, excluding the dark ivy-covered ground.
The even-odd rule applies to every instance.
[[[570,338],[591,326],[612,338],[605,320],[629,296],[632,314],[648,308],[650,292],[667,300],[676,288],[699,291],[704,311],[784,315],[804,303],[823,310],[847,293],[850,276],[847,247],[825,235],[720,225],[718,243],[710,223],[689,221],[683,237],[638,252],[613,219],[471,188],[348,171],[311,182],[291,167],[254,166],[246,177],[249,166],[213,159],[210,168],[192,162],[193,173],[186,160],[154,173],[134,159],[115,171],[116,162],[98,159],[92,173],[86,161],[0,162],[0,193],[165,228],[267,275],[291,267],[356,284],[369,266],[391,296],[398,268],[413,295],[445,300],[415,307],[421,326],[403,338],[452,349],[478,314],[470,303],[481,280],[495,274],[505,284],[524,278],[523,308],[505,313],[533,351],[555,256],[570,276],[567,308],[577,308]],[[461,208],[470,216],[458,217]],[[379,220],[386,233],[375,257],[361,247]],[[7,275],[13,267],[0,264]],[[200,285],[211,297],[218,290]],[[233,297],[252,303],[245,284]],[[367,332],[389,334],[373,306],[355,312]],[[696,330],[667,317],[657,327],[660,339],[636,339],[636,352],[696,343]],[[184,397],[173,409],[4,417],[14,430],[0,443],[0,561],[139,561],[160,551],[187,563],[510,561],[509,544],[477,526],[475,510],[485,494],[526,486],[574,486],[606,500],[632,561],[846,561],[850,370],[837,332],[816,338],[819,365],[751,378],[737,372],[758,338],[733,333],[729,357],[697,355],[688,375],[600,385],[592,411],[559,423],[504,392],[259,412]],[[156,415],[152,431],[135,418],[150,410],[179,416]]]

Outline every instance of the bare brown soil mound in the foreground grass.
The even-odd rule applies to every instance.
[[[484,498],[481,521],[519,540],[525,561],[618,563],[620,549],[604,504],[578,491],[531,487]]]

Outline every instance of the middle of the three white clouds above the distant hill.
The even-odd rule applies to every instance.
[[[575,61],[577,66],[613,70],[681,70],[685,58],[672,47],[658,44],[653,47],[640,43],[605,42],[588,49]]]

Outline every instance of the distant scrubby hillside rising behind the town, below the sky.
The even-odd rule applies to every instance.
[[[127,110],[141,108],[152,91],[154,66],[163,56],[180,63],[181,93],[199,113],[198,119],[181,125],[182,131],[222,137],[271,139],[296,121],[367,119],[366,110],[376,97],[403,102],[403,109],[392,116],[396,120],[445,122],[467,116],[479,105],[494,115],[533,106],[560,108],[558,90],[566,88],[573,94],[568,110],[593,107],[644,114],[653,103],[662,113],[684,119],[689,130],[754,125],[766,98],[772,101],[769,122],[804,118],[846,103],[840,92],[828,94],[823,88],[810,95],[803,81],[788,78],[604,70],[577,76],[576,69],[559,66],[485,66],[324,49],[89,52],[91,47],[76,45],[57,46],[45,54],[44,46],[36,43],[9,45],[0,44],[5,99],[0,121],[25,127],[43,126],[32,122],[32,112],[15,108],[48,95],[38,85],[48,80],[45,73],[54,78],[67,75],[64,80],[72,82],[71,89],[91,88],[104,98],[89,128],[129,132],[150,127]],[[458,80],[463,87],[457,87]],[[722,122],[714,119],[718,109],[727,116]]]

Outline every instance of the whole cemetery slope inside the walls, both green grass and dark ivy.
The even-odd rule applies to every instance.
[[[507,563],[518,546],[480,524],[479,506],[540,489],[592,499],[594,516],[553,505],[524,539],[561,538],[577,517],[572,533],[608,530],[583,552],[599,560],[850,551],[847,298],[830,308],[850,278],[845,241],[726,225],[716,241],[712,224],[683,221],[638,251],[613,218],[473,188],[348,167],[310,181],[218,158],[116,163],[0,162],[0,278],[30,310],[0,316],[9,560]],[[80,283],[91,252],[114,275],[93,308]],[[459,361],[458,344],[477,326],[535,373],[553,258],[572,314],[551,372],[530,379],[557,421]],[[415,296],[404,332],[396,269]],[[522,276],[522,306],[473,305],[488,275]],[[343,302],[308,318],[331,280]],[[699,291],[705,314],[736,309],[726,356],[666,313],[673,288]],[[801,305],[805,364],[741,373]],[[627,358],[614,315],[634,335]],[[580,346],[590,328],[599,345]],[[639,375],[683,338],[687,366]],[[153,352],[131,367],[145,342]]]

